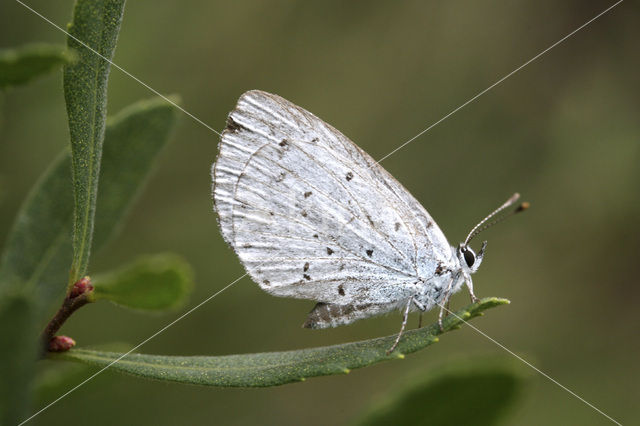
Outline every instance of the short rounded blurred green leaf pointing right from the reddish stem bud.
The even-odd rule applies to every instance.
[[[96,300],[154,311],[179,307],[193,286],[189,264],[172,254],[141,257],[91,282]]]

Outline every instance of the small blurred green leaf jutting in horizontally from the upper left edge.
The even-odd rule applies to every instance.
[[[0,89],[28,83],[75,60],[73,51],[56,44],[31,44],[0,50]]]

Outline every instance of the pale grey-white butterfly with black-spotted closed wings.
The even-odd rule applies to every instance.
[[[463,284],[477,300],[471,274],[486,241],[477,254],[469,242],[519,197],[451,246],[366,152],[310,112],[258,90],[244,93],[229,114],[219,151],[211,171],[215,210],[251,278],[274,296],[317,301],[307,328],[402,309],[389,352],[410,311],[439,305],[442,327],[444,306]]]

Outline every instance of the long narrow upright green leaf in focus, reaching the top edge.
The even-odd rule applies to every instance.
[[[80,61],[64,68],[74,191],[73,261],[69,285],[87,271],[98,177],[107,118],[110,60],[122,22],[124,0],[78,0],[69,25],[69,48]],[[80,43],[82,42],[82,43]]]

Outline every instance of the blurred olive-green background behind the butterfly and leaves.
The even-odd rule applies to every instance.
[[[70,19],[72,1],[28,4],[60,26]],[[132,1],[114,61],[158,91],[180,94],[189,112],[216,129],[240,94],[262,89],[380,158],[611,4]],[[474,325],[626,424],[640,420],[639,21],[637,6],[622,3],[383,162],[452,244],[514,191],[531,201],[526,215],[485,235],[476,294],[512,304]],[[38,41],[64,43],[65,36],[18,3],[3,2],[0,47]],[[61,81],[54,73],[0,95],[0,244],[29,188],[68,143]],[[151,96],[112,69],[110,114]],[[196,272],[189,306],[243,274],[211,209],[217,142],[182,116],[124,232],[94,253],[92,272],[175,251]],[[453,306],[467,302],[463,290]],[[400,325],[394,314],[302,329],[313,304],[269,296],[245,278],[140,351],[295,349],[392,334]],[[177,315],[97,303],[62,331],[79,346],[136,344]],[[427,319],[434,318],[431,312]],[[269,389],[105,373],[33,424],[69,424],[69,416],[72,424],[95,425],[345,424],[413,376],[452,359],[503,354],[465,327],[403,361]],[[530,382],[508,423],[610,424],[542,376]]]

